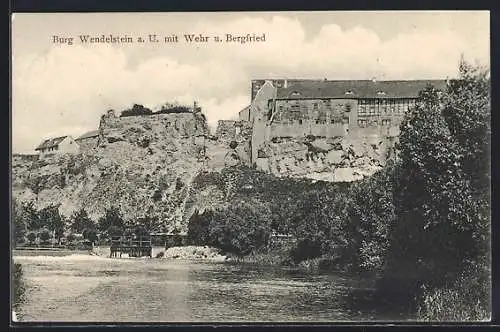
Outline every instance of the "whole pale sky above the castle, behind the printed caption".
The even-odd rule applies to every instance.
[[[458,62],[490,63],[487,11],[16,13],[12,151],[95,130],[108,109],[197,101],[211,127],[250,103],[252,79],[443,79]],[[184,34],[210,36],[186,43]],[[227,43],[265,34],[265,42]],[[130,44],[79,35],[130,36]],[[178,35],[179,43],[137,43]],[[72,45],[54,36],[73,37]],[[213,36],[224,41],[213,42]],[[162,39],[163,40],[163,39]]]

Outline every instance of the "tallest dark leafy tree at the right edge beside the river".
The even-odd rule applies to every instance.
[[[389,270],[431,287],[488,256],[489,83],[460,70],[446,91],[422,91],[401,125]]]

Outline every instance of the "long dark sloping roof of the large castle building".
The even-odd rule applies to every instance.
[[[277,99],[307,98],[416,98],[428,84],[446,87],[446,80],[412,81],[327,81],[292,80],[287,88],[277,89]]]

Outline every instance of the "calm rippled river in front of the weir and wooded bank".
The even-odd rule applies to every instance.
[[[22,321],[339,322],[401,319],[357,304],[373,280],[208,261],[19,256]],[[364,294],[364,295],[359,295]]]

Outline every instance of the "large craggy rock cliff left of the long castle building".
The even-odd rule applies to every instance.
[[[61,204],[65,216],[84,207],[95,219],[117,206],[127,220],[156,216],[159,230],[183,229],[193,179],[222,169],[234,149],[209,135],[201,113],[117,117],[111,111],[101,118],[94,151],[43,159],[14,156],[13,196],[33,200],[38,208]],[[204,190],[206,204],[217,201],[210,188]],[[202,196],[198,199],[205,204]]]

